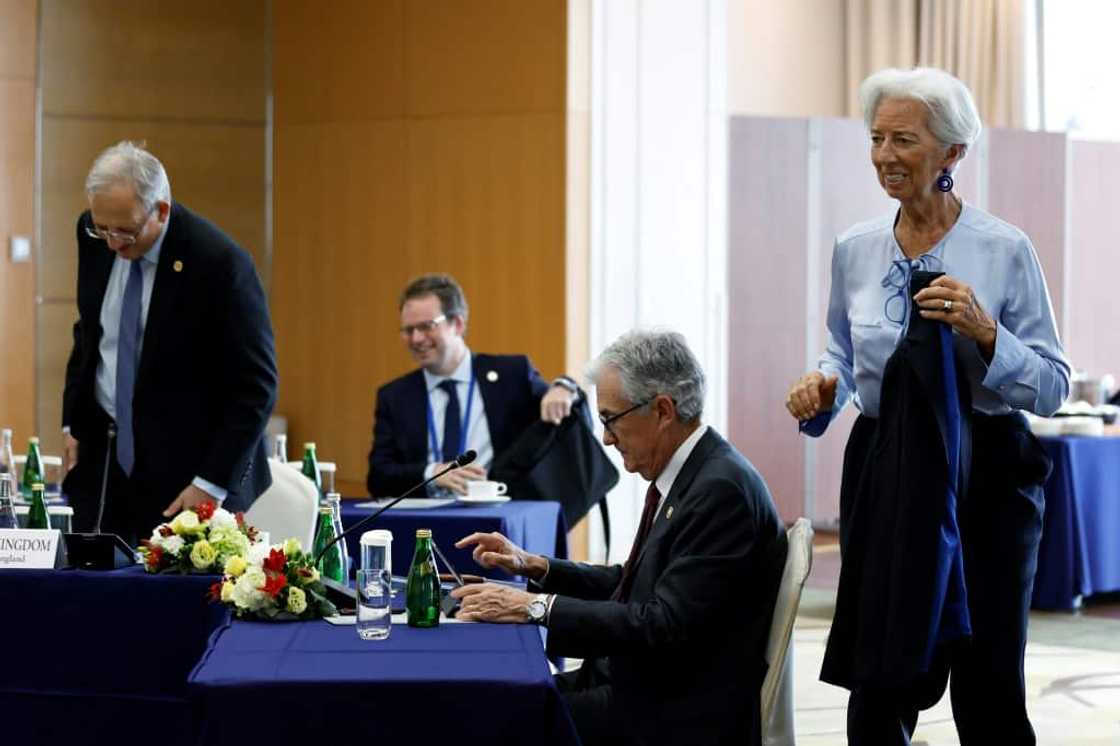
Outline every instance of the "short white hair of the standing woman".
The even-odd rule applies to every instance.
[[[867,129],[871,129],[875,112],[884,99],[913,99],[924,103],[930,111],[930,131],[945,146],[962,146],[961,158],[983,129],[968,86],[936,67],[887,67],[868,76],[859,86]]]

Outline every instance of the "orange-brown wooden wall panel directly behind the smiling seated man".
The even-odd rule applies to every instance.
[[[396,297],[448,271],[468,341],[564,370],[564,3],[273,4],[278,412],[364,492]]]

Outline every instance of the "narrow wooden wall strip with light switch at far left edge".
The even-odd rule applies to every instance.
[[[34,240],[36,0],[0,0],[0,427],[17,448],[35,433],[34,262],[13,263],[12,235]]]

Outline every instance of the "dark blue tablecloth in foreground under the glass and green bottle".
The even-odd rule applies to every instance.
[[[578,743],[528,625],[394,625],[366,642],[326,622],[234,622],[190,686],[207,746]]]

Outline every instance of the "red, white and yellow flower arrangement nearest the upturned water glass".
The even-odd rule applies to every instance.
[[[269,548],[267,556],[231,558],[222,580],[211,586],[211,600],[227,604],[243,619],[289,622],[334,616],[338,610],[327,599],[312,560],[298,539]]]

